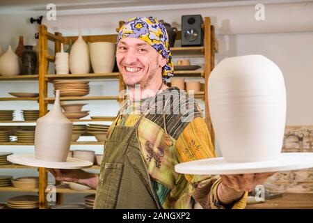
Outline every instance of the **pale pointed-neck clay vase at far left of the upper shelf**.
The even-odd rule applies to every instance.
[[[11,46],[0,57],[0,75],[15,76],[21,73],[22,61],[19,56],[13,52]]]

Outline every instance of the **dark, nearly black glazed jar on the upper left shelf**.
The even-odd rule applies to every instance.
[[[35,75],[37,54],[33,46],[26,45],[22,52],[22,75]]]

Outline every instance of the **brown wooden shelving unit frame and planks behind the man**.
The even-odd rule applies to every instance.
[[[217,52],[217,41],[214,35],[214,26],[211,26],[210,18],[204,18],[204,46],[201,47],[173,47],[171,48],[172,56],[197,56],[204,57],[204,70],[177,70],[174,71],[176,77],[199,77],[204,78],[205,86],[204,89],[207,89],[207,79],[209,77],[209,73],[214,68],[214,52]],[[40,117],[47,114],[47,105],[51,102],[54,102],[54,98],[50,98],[47,95],[48,83],[52,82],[54,79],[86,79],[86,80],[105,80],[105,79],[118,79],[119,82],[119,91],[125,90],[126,86],[122,82],[122,77],[119,72],[109,72],[103,74],[94,74],[88,73],[83,75],[78,74],[70,74],[70,75],[55,75],[55,74],[47,74],[48,62],[54,63],[55,56],[49,55],[48,53],[48,41],[54,43],[54,54],[56,52],[61,51],[61,43],[64,45],[68,45],[70,40],[74,43],[77,40],[78,36],[62,36],[62,33],[49,33],[47,31],[47,27],[45,25],[39,25],[39,73],[38,75],[19,75],[15,77],[1,77],[0,82],[15,82],[15,81],[38,81],[39,85],[39,97],[38,98],[0,98],[2,101],[19,101],[19,100],[29,100],[38,102]],[[179,32],[177,35],[177,40],[181,38],[181,33]],[[112,42],[115,43],[117,40],[117,34],[113,35],[98,35],[98,36],[83,36],[83,39],[86,42]],[[206,103],[205,114],[206,121],[209,126],[209,130],[211,132],[212,137],[214,137],[213,129],[211,128],[211,120],[209,118],[209,107],[207,106],[207,91],[204,90],[199,93],[195,93],[194,98],[201,98]],[[117,102],[122,102],[124,98],[120,98],[118,95],[108,95],[108,96],[83,96],[83,97],[61,97],[61,100],[116,100]],[[74,123],[82,123],[82,122],[101,122],[101,121],[113,121],[115,117],[112,116],[104,116],[101,119],[72,119],[71,121]],[[35,121],[2,121],[3,123],[35,123]],[[7,128],[7,127],[3,127]],[[12,129],[16,129],[18,127],[14,126]],[[213,139],[214,141],[214,139]],[[103,145],[104,142],[98,141],[77,141],[72,142],[72,145]],[[1,145],[7,146],[30,146],[33,143],[18,143],[18,142],[8,142],[1,143]],[[3,169],[37,169],[35,167],[27,167],[23,165],[17,164],[8,164],[2,165],[0,168]],[[99,170],[99,166],[93,166],[88,169]],[[38,168],[39,172],[39,188],[31,190],[31,192],[38,192],[39,194],[39,207],[40,209],[48,208],[47,200],[45,199],[46,188],[47,188],[47,170],[45,168]],[[57,183],[58,184],[58,183]],[[15,187],[0,187],[0,191],[8,191],[8,192],[29,192],[29,190],[22,190],[20,188]],[[84,190],[77,191],[71,190],[67,187],[57,186],[57,199],[58,202],[62,201],[62,195],[64,193],[95,193],[95,190]]]

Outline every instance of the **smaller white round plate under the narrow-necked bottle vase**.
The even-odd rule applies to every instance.
[[[53,169],[82,169],[93,166],[92,162],[79,160],[77,158],[67,157],[66,162],[50,162],[45,160],[36,160],[35,154],[17,154],[9,155],[8,160],[16,164],[22,164],[31,167],[45,167]]]

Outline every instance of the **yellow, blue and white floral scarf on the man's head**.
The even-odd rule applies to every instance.
[[[134,17],[120,28],[118,41],[126,37],[138,38],[151,45],[166,59],[166,65],[162,69],[163,79],[173,76],[174,66],[170,54],[168,33],[161,22],[152,17]]]

